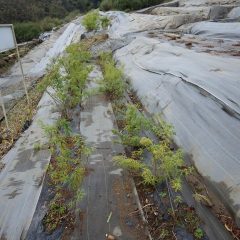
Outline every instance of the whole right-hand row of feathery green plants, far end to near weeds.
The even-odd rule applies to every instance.
[[[114,162],[134,175],[140,176],[143,184],[155,186],[162,182],[166,183],[167,190],[161,192],[160,197],[169,198],[171,207],[169,215],[172,217],[172,222],[167,223],[167,228],[171,230],[167,228],[164,228],[164,231],[161,230],[159,239],[170,239],[175,224],[185,225],[185,218],[190,219],[190,224],[186,225],[187,230],[200,236],[199,230],[194,233],[199,227],[200,220],[195,211],[188,211],[183,207],[185,205],[180,194],[182,177],[191,174],[193,168],[184,166],[181,149],[173,150],[172,148],[172,139],[175,134],[173,127],[161,116],[155,116],[152,120],[143,115],[141,103],[138,103],[137,99],[135,102],[139,105],[126,104],[123,98],[126,87],[123,74],[119,69],[118,74],[113,70],[116,67],[111,53],[102,53],[99,64],[104,77],[100,89],[111,99],[120,127],[120,130],[115,129],[113,132],[118,135],[128,153],[127,156],[115,156]],[[154,141],[149,137],[151,134],[156,136]],[[144,161],[145,154],[150,156],[150,162]],[[174,197],[171,189],[177,193]]]

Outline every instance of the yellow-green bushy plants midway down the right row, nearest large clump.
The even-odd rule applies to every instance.
[[[136,170],[146,184],[155,185],[168,180],[175,191],[180,191],[181,176],[186,171],[182,170],[184,164],[182,151],[172,151],[170,148],[174,134],[173,128],[163,120],[161,120],[162,125],[155,124],[140,113],[134,105],[127,106],[124,123],[122,131],[115,132],[125,146],[134,147],[135,151],[131,158],[122,156],[115,158],[117,163],[122,167],[129,167],[132,171]],[[142,137],[144,131],[155,133],[160,141],[154,143],[150,138]],[[150,165],[142,163],[142,154],[145,151],[152,156]]]

